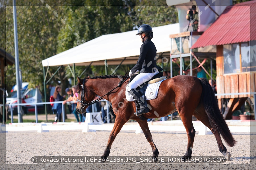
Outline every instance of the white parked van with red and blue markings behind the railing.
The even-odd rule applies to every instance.
[[[39,103],[42,102],[42,95],[40,94],[38,88],[30,88],[26,90],[20,91],[22,103]],[[9,97],[10,96],[10,97]],[[6,104],[8,105],[8,113],[11,112],[11,104],[17,104],[17,91],[11,92],[6,98]],[[43,105],[37,105],[38,109],[43,109]],[[34,105],[25,105],[21,107],[22,114],[26,114],[28,112],[34,112]],[[13,114],[18,113],[18,109],[16,105],[12,105]]]

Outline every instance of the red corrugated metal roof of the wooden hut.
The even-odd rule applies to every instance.
[[[239,6],[242,5],[242,6]],[[250,9],[251,6],[251,9]],[[250,38],[251,10],[251,38]],[[256,0],[226,7],[191,48],[256,40]]]

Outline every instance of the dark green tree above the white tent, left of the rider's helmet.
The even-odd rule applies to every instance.
[[[65,26],[59,32],[58,53],[90,41],[104,34],[120,33],[133,29],[131,16],[127,16],[127,7],[79,7],[75,11],[69,9],[65,18]],[[77,66],[78,75],[85,67]],[[96,68],[96,69],[95,69]],[[111,70],[111,68],[109,68]],[[98,70],[104,74],[104,67],[92,66],[87,73]],[[102,70],[102,71],[101,71]],[[67,74],[71,72],[67,69]]]

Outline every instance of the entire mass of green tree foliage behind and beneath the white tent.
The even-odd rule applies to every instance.
[[[12,1],[0,0],[1,27],[0,48],[15,56],[13,35],[13,5]],[[174,7],[167,6],[136,6],[136,5],[166,5],[165,0],[52,0],[52,1],[16,1],[18,50],[20,69],[23,82],[38,86],[43,92],[43,59],[73,48],[96,37],[111,33],[120,33],[137,29],[141,24],[152,27],[177,22],[177,12]],[[21,6],[28,5],[28,6]],[[36,5],[36,6],[32,6]],[[44,5],[44,6],[41,6]],[[53,6],[60,5],[60,6]],[[67,5],[67,6],[61,6]],[[74,5],[74,6],[68,6]],[[88,5],[88,6],[76,6]],[[101,5],[101,6],[93,6]],[[6,21],[5,21],[6,12]],[[120,37],[121,38],[121,37]],[[6,46],[5,46],[6,40]],[[139,50],[139,47],[138,47]],[[70,56],[72,60],[72,56]],[[72,67],[72,66],[71,66]],[[123,75],[133,65],[121,65],[107,68],[108,74]],[[75,73],[80,75],[86,66],[76,66]],[[49,67],[46,80],[58,69]],[[47,70],[47,68],[45,69]],[[84,75],[105,75],[105,66],[90,66]],[[16,84],[15,65],[7,66],[7,91]],[[68,78],[73,78],[69,67],[61,67],[52,78],[50,84],[61,82],[64,91]]]

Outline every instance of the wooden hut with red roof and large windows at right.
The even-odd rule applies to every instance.
[[[223,116],[231,119],[256,90],[256,1],[226,7],[191,49],[212,45],[216,46],[218,103],[230,99]]]

